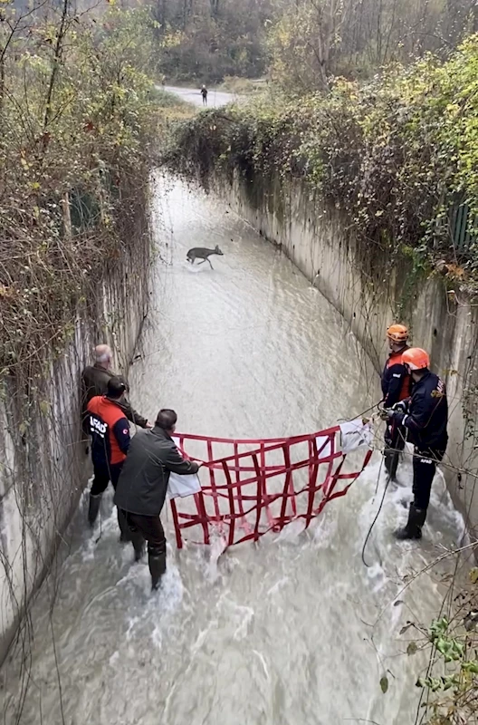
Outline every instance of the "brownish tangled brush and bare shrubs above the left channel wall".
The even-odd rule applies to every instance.
[[[16,373],[62,349],[78,304],[147,232],[152,24],[70,0],[1,8],[0,370]]]

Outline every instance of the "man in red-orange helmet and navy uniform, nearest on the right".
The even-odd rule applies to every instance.
[[[398,402],[401,410],[386,411],[397,425],[404,426],[407,438],[414,444],[413,493],[406,527],[398,529],[397,539],[422,537],[436,464],[444,455],[448,434],[448,401],[445,382],[430,372],[428,353],[412,347],[402,354],[402,362],[413,379],[412,396]]]

